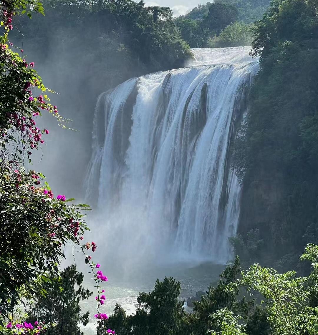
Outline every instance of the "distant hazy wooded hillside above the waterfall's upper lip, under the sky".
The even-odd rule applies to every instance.
[[[268,0],[217,0],[198,5],[175,23],[192,48],[251,45],[252,25],[268,5]]]

